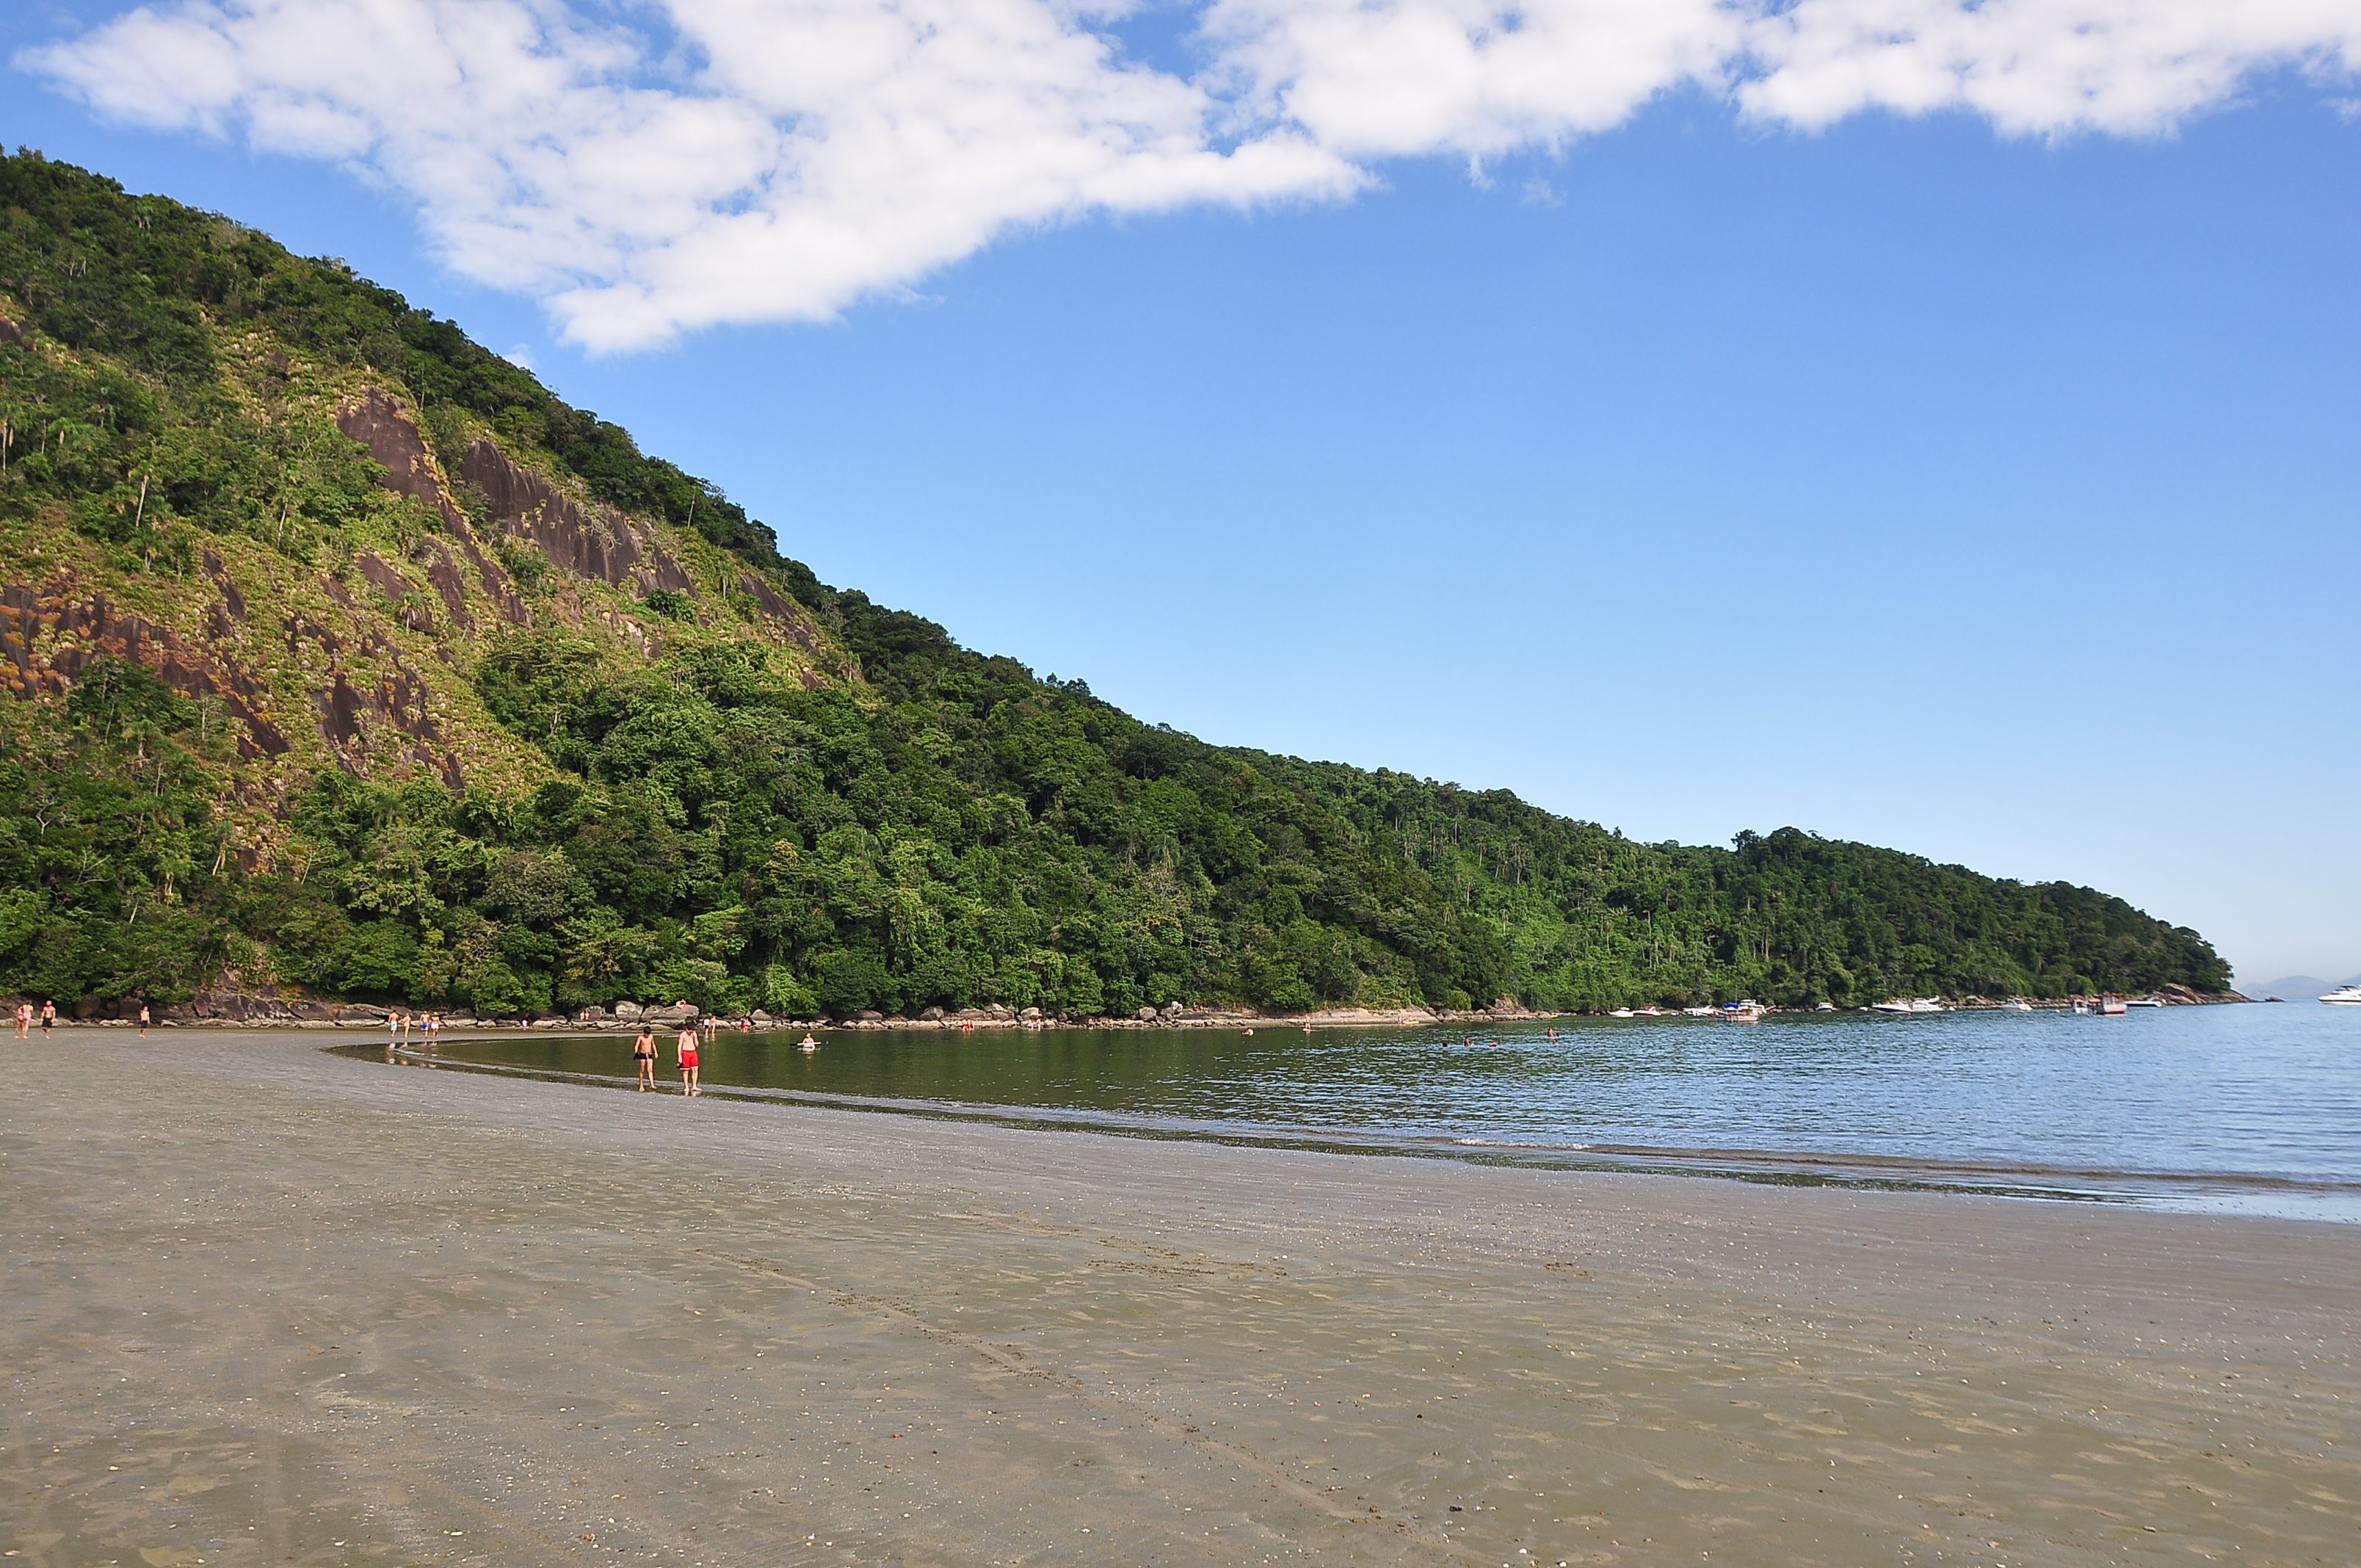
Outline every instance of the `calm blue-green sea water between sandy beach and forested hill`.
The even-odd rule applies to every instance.
[[[1556,1030],[1556,1039],[1546,1030]],[[2361,1008],[1558,1020],[1466,1030],[722,1034],[718,1091],[1138,1133],[1969,1185],[2361,1221]],[[630,1037],[444,1041],[630,1077]],[[666,1041],[666,1063],[671,1044]],[[678,1074],[666,1065],[666,1084]]]

